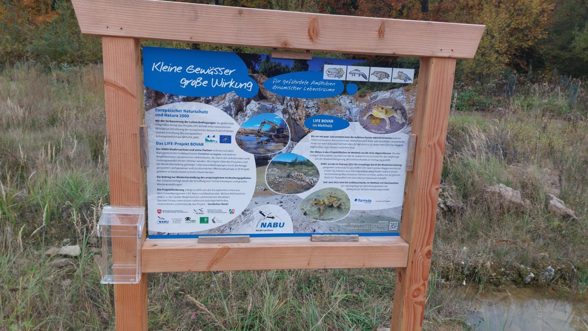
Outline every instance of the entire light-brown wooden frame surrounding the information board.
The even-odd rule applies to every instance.
[[[82,33],[102,36],[113,205],[145,205],[139,39],[420,57],[412,132],[416,147],[413,171],[406,177],[400,237],[198,244],[195,239],[145,240],[143,234],[140,253],[142,273],[397,267],[392,330],[422,328],[456,58],[475,55],[483,25],[154,0],[72,2]],[[116,241],[113,254],[116,259],[117,254],[135,253],[125,241]],[[146,279],[143,274],[139,284],[115,285],[116,329],[147,329]]]

